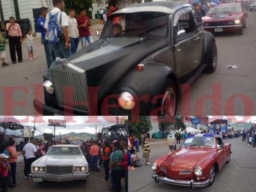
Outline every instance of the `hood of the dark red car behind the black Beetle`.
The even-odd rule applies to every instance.
[[[237,13],[220,13],[220,14],[207,14],[203,17],[204,22],[216,22],[216,21],[231,21],[238,19],[242,16],[242,12]]]

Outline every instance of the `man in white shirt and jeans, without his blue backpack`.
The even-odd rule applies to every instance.
[[[68,17],[67,17],[67,14],[63,12],[63,9],[64,9],[63,0],[52,0],[52,4],[53,4],[53,9],[50,12],[52,15],[58,14],[58,24],[61,27],[62,34],[64,36],[64,38],[60,38],[58,43],[51,44],[52,51],[56,58],[59,57],[61,59],[66,59],[71,56],[70,39],[68,36],[68,25],[69,25]],[[46,15],[46,21],[44,25],[44,28],[47,31],[48,31],[48,23],[49,23],[49,13],[47,13]],[[54,60],[50,68],[53,68],[57,65],[59,65],[59,63],[56,60]],[[49,73],[50,73],[50,70],[46,72],[46,75],[49,75]]]

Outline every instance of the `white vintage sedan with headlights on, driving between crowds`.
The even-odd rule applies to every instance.
[[[31,165],[30,177],[35,182],[83,180],[86,182],[88,163],[77,145],[61,144],[52,146],[45,156]]]

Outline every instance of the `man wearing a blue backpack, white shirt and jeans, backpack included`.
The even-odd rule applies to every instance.
[[[66,59],[71,56],[70,39],[68,36],[68,17],[63,12],[63,0],[52,0],[53,9],[46,15],[44,28],[47,29],[46,38],[52,46],[55,57]],[[54,60],[50,66],[53,68],[58,65]],[[49,75],[50,70],[46,73]]]

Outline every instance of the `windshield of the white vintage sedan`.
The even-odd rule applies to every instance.
[[[68,147],[68,146],[53,146],[47,152],[49,156],[67,156],[67,155],[83,155],[80,148],[77,147]]]

